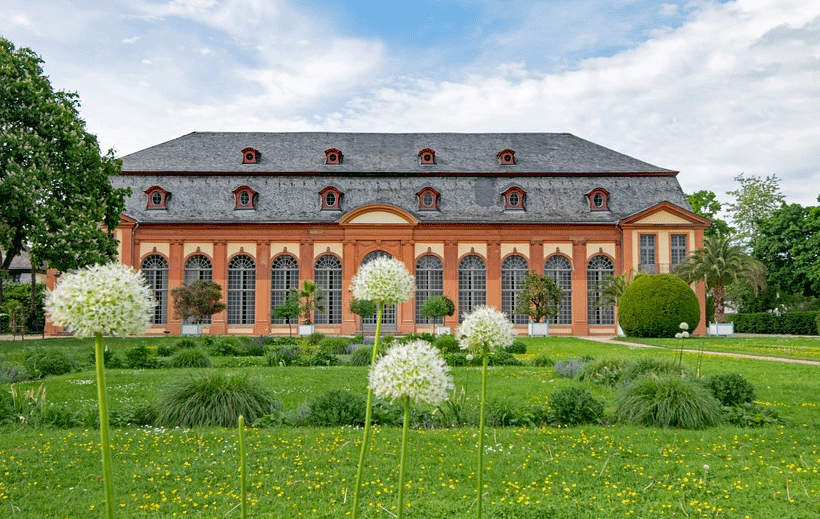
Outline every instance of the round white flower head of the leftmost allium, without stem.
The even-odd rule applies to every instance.
[[[46,294],[51,320],[77,337],[140,333],[148,326],[155,307],[142,273],[120,263],[64,274]]]

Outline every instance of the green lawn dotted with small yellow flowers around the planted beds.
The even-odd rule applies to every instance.
[[[106,339],[121,353],[139,341]],[[689,340],[692,342],[691,340]],[[709,339],[712,341],[712,339]],[[735,347],[731,339],[720,339]],[[25,346],[35,341],[25,341]],[[76,358],[91,343],[49,339]],[[630,348],[572,338],[525,339],[528,359],[677,360],[676,345]],[[741,341],[742,342],[742,341]],[[805,339],[805,345],[812,340]],[[0,343],[8,359],[22,358],[20,341]],[[687,343],[689,346],[689,343]],[[794,340],[792,346],[803,348]],[[745,347],[745,346],[744,346]],[[694,365],[696,353],[684,353]],[[215,364],[226,359],[215,357]],[[782,427],[701,431],[628,425],[562,429],[497,428],[486,440],[484,497],[488,518],[729,517],[813,518],[820,515],[820,379],[817,367],[706,355],[703,376],[732,371],[755,385],[757,402],[777,409]],[[364,394],[365,367],[233,367],[269,389],[287,409],[330,389]],[[152,401],[172,379],[199,370],[108,370],[111,407]],[[480,389],[477,368],[454,370],[468,402]],[[94,405],[93,373],[42,381],[50,402]],[[40,382],[26,384],[37,387]],[[550,394],[579,382],[552,368],[490,368],[489,399],[545,404]],[[583,383],[606,402],[611,389]],[[418,430],[408,459],[408,517],[474,515],[476,428]],[[377,428],[363,488],[364,517],[395,514],[401,429]],[[351,428],[249,430],[251,517],[343,517],[360,449]],[[99,437],[94,430],[0,429],[0,515],[19,518],[99,514]],[[118,429],[112,436],[120,517],[239,517],[236,431],[221,428]],[[708,467],[708,468],[706,468]]]

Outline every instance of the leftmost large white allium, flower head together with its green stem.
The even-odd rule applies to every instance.
[[[55,324],[68,328],[77,337],[95,337],[103,482],[109,518],[114,517],[114,478],[108,440],[102,336],[140,333],[148,326],[155,307],[156,302],[142,273],[119,263],[94,265],[64,274],[54,290],[46,294],[46,311]]]

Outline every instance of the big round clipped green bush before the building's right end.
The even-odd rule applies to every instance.
[[[618,303],[618,324],[633,337],[674,337],[680,323],[694,330],[699,322],[698,297],[672,274],[636,278]]]

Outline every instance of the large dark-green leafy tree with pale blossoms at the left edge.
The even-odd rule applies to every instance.
[[[76,93],[55,91],[43,61],[0,38],[0,270],[26,246],[32,265],[61,271],[116,257],[113,230],[128,189],[109,177],[120,165],[100,153]],[[2,301],[2,277],[0,277]]]

